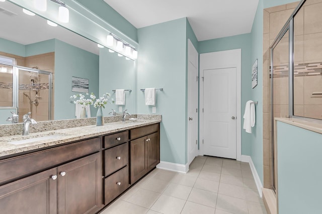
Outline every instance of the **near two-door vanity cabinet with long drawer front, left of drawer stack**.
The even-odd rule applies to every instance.
[[[102,207],[100,149],[98,137],[0,161],[0,168],[11,166],[0,176],[0,212],[96,213]]]

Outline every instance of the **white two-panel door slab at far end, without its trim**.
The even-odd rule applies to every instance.
[[[203,71],[204,154],[236,159],[236,68]]]

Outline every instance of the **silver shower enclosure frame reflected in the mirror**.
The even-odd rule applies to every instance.
[[[17,109],[17,114],[19,113],[19,70],[33,72],[38,74],[48,75],[48,120],[52,120],[51,117],[51,101],[52,101],[52,73],[48,71],[37,70],[33,68],[27,68],[18,65],[12,65],[8,63],[0,63],[0,65],[12,66],[13,67],[13,83],[12,83],[12,108]],[[0,109],[8,108],[9,106],[1,106]]]

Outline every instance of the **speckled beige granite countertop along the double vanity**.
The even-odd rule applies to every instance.
[[[28,136],[22,135],[12,135],[6,137],[0,137],[0,157],[13,155],[20,152],[30,151],[39,148],[46,148],[48,146],[59,145],[66,142],[82,140],[90,137],[95,137],[99,135],[110,134],[113,132],[118,132],[122,130],[137,128],[145,125],[150,125],[154,123],[161,122],[161,119],[138,119],[137,121],[126,121],[126,122],[110,122],[103,126],[88,125],[81,127],[72,127],[57,129],[51,131],[43,131],[37,133],[30,133]],[[51,136],[51,139],[40,139],[36,142],[23,143],[19,145],[14,145],[8,143],[8,141],[14,140],[24,140],[35,137]],[[50,137],[49,137],[50,138]]]

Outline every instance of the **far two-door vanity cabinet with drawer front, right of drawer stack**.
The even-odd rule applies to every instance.
[[[130,132],[130,177],[133,184],[160,162],[159,124]],[[139,138],[133,139],[134,137]]]

